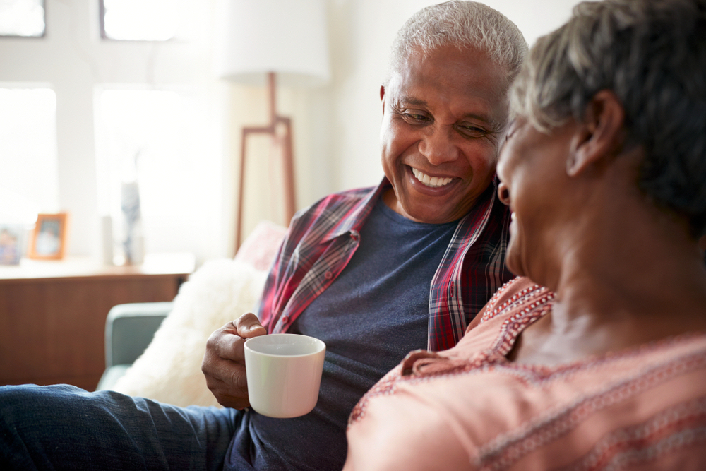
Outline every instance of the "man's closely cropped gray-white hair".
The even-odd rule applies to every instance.
[[[502,13],[477,1],[447,1],[422,8],[397,32],[385,84],[411,54],[447,45],[486,52],[508,71],[508,85],[527,55],[525,37]]]

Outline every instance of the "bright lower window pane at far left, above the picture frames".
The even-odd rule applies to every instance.
[[[59,209],[54,90],[0,88],[0,165],[0,222]]]

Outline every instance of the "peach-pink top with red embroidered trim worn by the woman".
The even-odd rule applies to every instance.
[[[456,347],[412,352],[354,407],[344,469],[706,469],[706,335],[509,362],[553,298],[516,278]]]

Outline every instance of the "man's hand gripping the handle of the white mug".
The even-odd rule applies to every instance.
[[[201,371],[206,376],[206,386],[220,405],[235,409],[249,407],[243,344],[246,339],[266,333],[257,316],[248,313],[208,338]]]

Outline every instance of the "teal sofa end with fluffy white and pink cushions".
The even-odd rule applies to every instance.
[[[114,306],[106,319],[106,369],[97,390],[220,407],[201,373],[206,340],[255,309],[285,233],[285,227],[261,222],[234,258],[204,263],[174,301]]]

